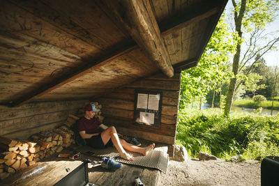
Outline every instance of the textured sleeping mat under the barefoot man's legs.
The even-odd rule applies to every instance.
[[[119,157],[119,153],[114,147],[93,149],[92,151],[98,157],[110,157],[110,156]],[[149,168],[159,169],[160,171],[163,171],[163,173],[167,171],[167,164],[169,161],[169,155],[167,153],[163,153],[162,151],[158,151],[158,150],[151,150],[151,152],[146,156],[140,155],[139,153],[133,153],[133,152],[128,152],[128,153],[130,155],[133,155],[133,157],[135,157],[135,160],[128,161],[119,157],[118,160],[116,161],[124,164],[134,164],[138,166],[145,166]]]

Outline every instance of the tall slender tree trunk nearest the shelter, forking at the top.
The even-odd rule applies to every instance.
[[[232,3],[234,5],[234,8],[236,8],[236,3],[234,0],[232,0]],[[241,54],[241,39],[242,39],[241,25],[242,25],[242,19],[245,10],[246,10],[246,0],[242,0],[241,8],[239,10],[239,15],[237,14],[237,11],[234,12],[234,23],[236,26],[236,32],[239,34],[239,40],[237,41],[236,54],[234,54],[234,60],[232,63],[232,72],[234,73],[234,77],[231,78],[229,82],[229,91],[227,93],[224,116],[229,116],[229,112],[231,111],[232,101],[234,98],[234,90],[236,87],[236,80],[237,80],[236,75],[238,75],[239,73],[239,61],[240,61],[240,54]]]

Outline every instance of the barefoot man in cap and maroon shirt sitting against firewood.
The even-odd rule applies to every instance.
[[[107,127],[100,123],[98,118],[94,117],[95,112],[100,111],[100,109],[96,109],[94,104],[87,104],[84,110],[84,116],[77,121],[77,131],[89,146],[93,148],[105,148],[113,145],[119,152],[120,157],[125,160],[134,160],[134,157],[126,153],[125,149],[147,155],[155,147],[155,144],[151,144],[145,148],[141,148],[129,144],[123,139],[119,139],[115,127]],[[100,128],[103,129],[103,132]]]

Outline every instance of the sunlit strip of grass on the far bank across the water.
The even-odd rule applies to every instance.
[[[248,107],[248,108],[264,107],[266,109],[271,109],[272,101],[254,102],[253,100],[235,100],[232,104],[239,107]],[[273,108],[279,109],[279,101],[273,102]]]

